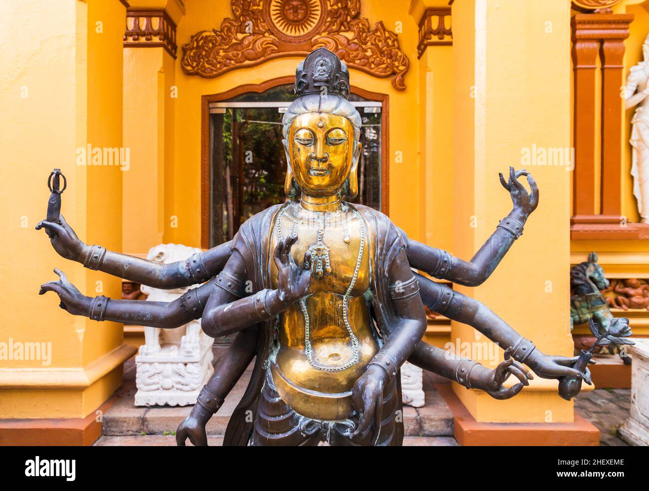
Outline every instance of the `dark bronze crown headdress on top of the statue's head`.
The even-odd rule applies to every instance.
[[[349,69],[336,53],[318,48],[304,58],[295,70],[295,95],[323,93],[349,97]]]

